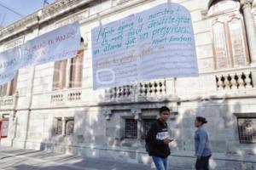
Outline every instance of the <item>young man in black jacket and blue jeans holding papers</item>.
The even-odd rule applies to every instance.
[[[160,118],[154,122],[146,137],[148,143],[148,154],[152,156],[154,165],[157,170],[167,170],[167,157],[170,156],[171,151],[169,139],[167,120],[170,117],[170,110],[168,107],[163,106],[160,108]]]

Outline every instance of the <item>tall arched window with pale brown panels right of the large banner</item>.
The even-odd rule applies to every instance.
[[[209,3],[215,69],[249,64],[247,38],[240,3],[218,0]]]

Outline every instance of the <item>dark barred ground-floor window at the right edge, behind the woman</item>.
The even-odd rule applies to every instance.
[[[241,144],[256,143],[256,117],[237,118],[239,140]]]

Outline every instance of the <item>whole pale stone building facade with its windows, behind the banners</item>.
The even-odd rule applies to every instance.
[[[172,0],[191,13],[199,77],[92,89],[91,29],[166,2],[58,0],[3,28],[0,51],[74,21],[82,37],[75,58],[22,68],[1,86],[1,144],[149,164],[143,139],[167,105],[171,167],[193,169],[194,120],[205,116],[212,169],[255,169],[255,0]]]

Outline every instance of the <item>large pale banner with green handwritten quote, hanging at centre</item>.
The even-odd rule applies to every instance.
[[[92,30],[94,89],[164,77],[196,77],[188,9],[164,3]]]

